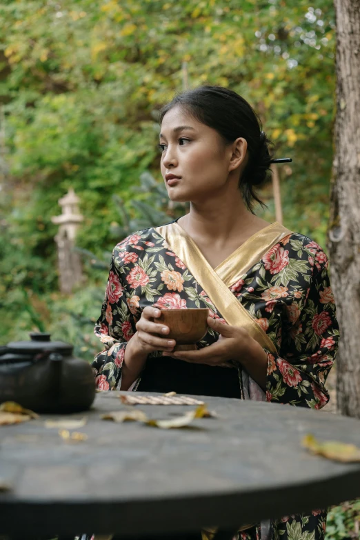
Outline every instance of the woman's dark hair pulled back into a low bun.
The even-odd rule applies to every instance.
[[[270,141],[261,127],[261,121],[248,101],[236,92],[222,86],[199,86],[186,90],[175,97],[159,111],[159,121],[166,112],[180,106],[206,126],[217,130],[228,144],[238,137],[248,142],[249,160],[239,179],[239,188],[248,209],[254,213],[253,201],[266,206],[257,197],[256,188],[262,186],[269,177],[272,156]]]

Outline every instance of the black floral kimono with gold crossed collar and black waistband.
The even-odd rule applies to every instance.
[[[268,355],[266,393],[234,359],[233,368],[148,355],[131,390],[264,399],[320,409],[334,362],[339,327],[321,247],[280,223],[263,228],[212,268],[174,221],[135,232],[115,246],[106,297],[95,333],[105,350],[93,368],[98,388],[119,390],[128,341],[146,306],[208,308],[210,316],[241,326]],[[198,348],[217,341],[208,330]],[[239,540],[322,540],[326,512],[292,515],[239,530]],[[203,538],[212,532],[203,530]]]

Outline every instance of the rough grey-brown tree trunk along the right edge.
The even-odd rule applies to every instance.
[[[334,0],[337,115],[329,250],[341,340],[337,403],[360,418],[360,0]]]

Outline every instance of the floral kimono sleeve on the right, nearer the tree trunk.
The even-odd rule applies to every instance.
[[[329,401],[326,377],[339,343],[334,296],[330,288],[328,261],[317,263],[303,303],[287,308],[288,326],[283,328],[280,356],[268,354],[266,401],[320,409]]]

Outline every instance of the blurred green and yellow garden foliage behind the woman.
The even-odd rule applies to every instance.
[[[168,204],[157,150],[157,110],[186,77],[250,101],[276,157],[293,159],[278,166],[284,225],[326,248],[332,1],[3,1],[0,28],[1,343],[46,330],[89,361],[100,350],[112,248],[186,211]],[[70,187],[85,279],[63,295],[51,218]],[[262,197],[274,221],[271,183]],[[352,537],[357,510],[332,510],[328,540]]]

